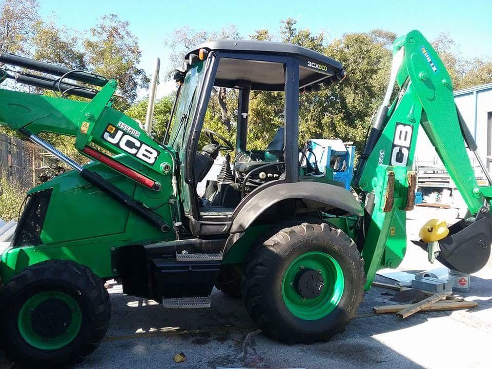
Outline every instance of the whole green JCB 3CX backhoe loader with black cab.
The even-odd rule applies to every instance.
[[[84,360],[108,329],[104,280],[116,277],[124,293],[167,308],[210,306],[217,285],[241,295],[252,319],[275,339],[330,339],[356,314],[376,271],[403,259],[420,126],[470,212],[445,238],[420,244],[436,248],[434,255],[454,270],[481,269],[492,242],[492,187],[477,185],[466,150],[476,145],[449,75],[418,31],[399,37],[393,49],[387,93],[352,189],[334,180],[333,170],[318,168],[319,158],[308,159],[308,145],[299,149],[300,91],[316,93],[344,78],[342,65],[325,55],[254,41],[196,47],[174,73],[179,89],[164,142],[112,108],[117,81],[0,55],[2,63],[23,68],[4,68],[2,79],[60,94],[2,89],[0,124],[73,169],[29,191],[2,255],[7,356],[37,367]],[[202,127],[214,86],[238,92],[236,142]],[[284,92],[283,126],[263,150],[248,142],[252,91]],[[43,132],[75,137],[91,162],[66,157],[40,138]],[[200,136],[209,143],[200,147]],[[226,157],[223,170],[198,196],[197,183],[219,153]]]

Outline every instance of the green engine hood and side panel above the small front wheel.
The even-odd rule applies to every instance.
[[[126,158],[128,160],[128,158]],[[172,223],[173,211],[169,204],[172,196],[171,180],[158,176],[162,190],[155,192],[136,186],[124,176],[116,174],[100,163],[86,168],[116,183],[127,194],[141,201]],[[145,168],[139,168],[142,173]],[[35,193],[52,188],[41,231],[42,244],[22,245],[7,249],[0,262],[3,282],[29,265],[48,259],[68,259],[87,265],[102,278],[118,275],[112,263],[112,248],[175,239],[174,232],[163,233],[138,215],[129,212],[119,202],[104,195],[72,171],[44,183],[30,191]]]

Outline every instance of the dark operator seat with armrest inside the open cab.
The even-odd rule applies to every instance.
[[[279,127],[265,150],[243,151],[236,155],[234,172],[241,177],[267,162],[283,161],[284,132],[284,127]]]

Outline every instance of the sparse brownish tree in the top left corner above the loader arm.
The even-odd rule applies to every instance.
[[[38,9],[36,0],[0,2],[0,52],[28,54]]]

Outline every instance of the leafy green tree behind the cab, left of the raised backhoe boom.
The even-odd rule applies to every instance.
[[[299,145],[309,138],[341,138],[362,147],[370,117],[384,95],[391,66],[393,32],[374,30],[345,34],[325,43],[323,33],[298,29],[296,20],[282,21],[280,40],[316,50],[344,66],[347,78],[316,93],[301,91]],[[259,30],[251,38],[266,39]],[[253,93],[250,101],[250,137],[256,149],[264,149],[283,120],[283,93]]]

